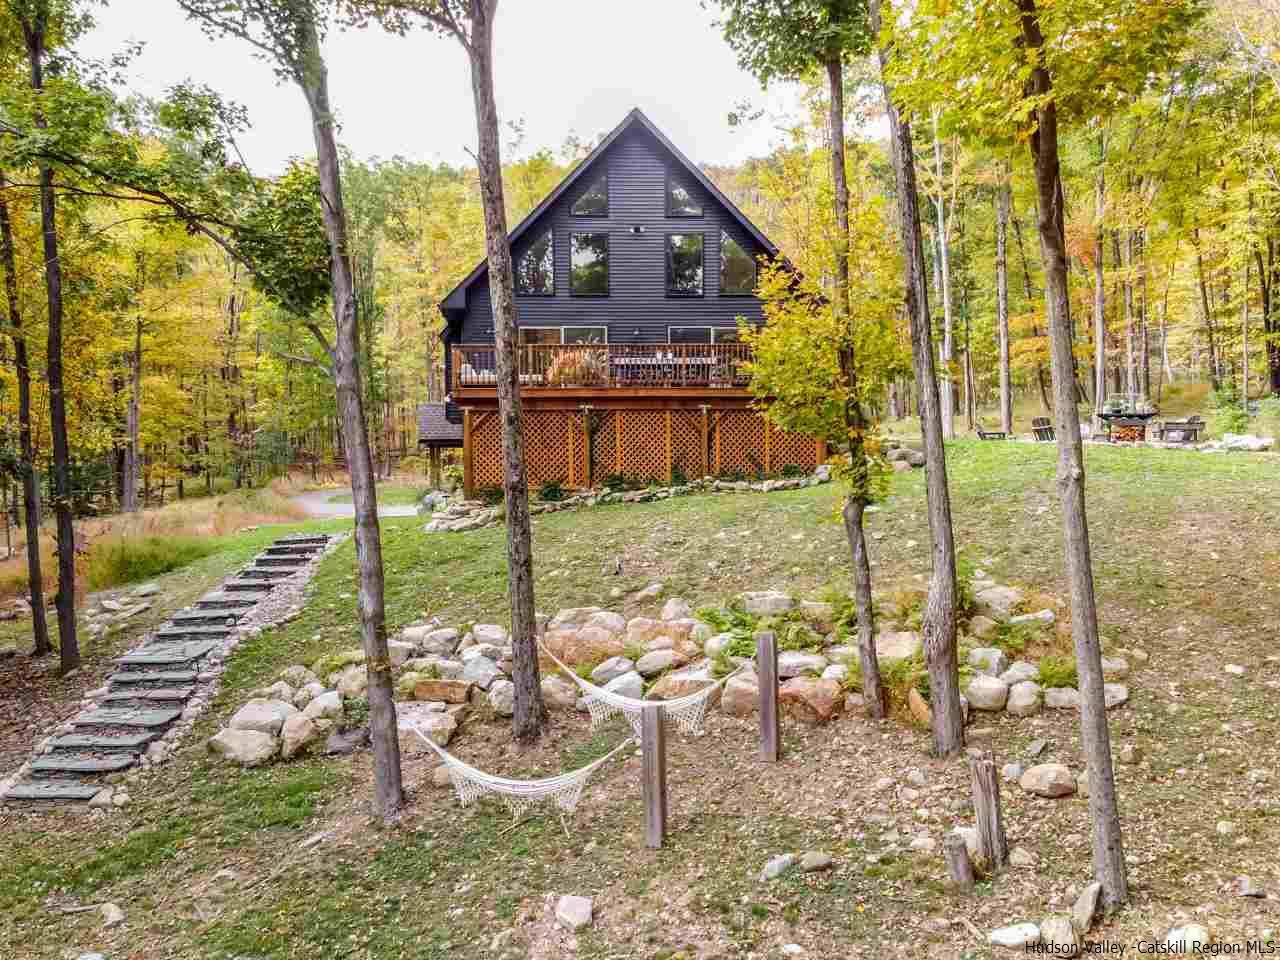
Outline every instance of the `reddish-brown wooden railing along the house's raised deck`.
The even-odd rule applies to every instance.
[[[745,343],[548,344],[517,348],[522,387],[549,389],[744,389]],[[493,344],[453,348],[453,387],[497,385]]]

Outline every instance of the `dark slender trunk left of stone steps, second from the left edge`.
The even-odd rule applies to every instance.
[[[46,27],[47,13],[42,8],[22,22],[31,65],[31,88],[37,96],[45,87]],[[44,111],[36,113],[36,127],[47,127]],[[81,662],[76,636],[76,525],[72,518],[70,448],[67,436],[67,394],[63,387],[63,266],[58,257],[54,170],[49,164],[40,165],[40,225],[45,253],[45,293],[49,301],[46,376],[49,426],[54,447],[54,516],[58,526],[58,637],[61,672],[69,673]]]

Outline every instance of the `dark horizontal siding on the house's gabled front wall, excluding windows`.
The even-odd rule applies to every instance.
[[[727,326],[737,317],[760,323],[755,297],[719,296],[719,237],[728,232],[744,250],[765,253],[741,224],[671,156],[648,131],[632,127],[596,159],[609,175],[609,215],[573,216],[570,210],[579,193],[596,178],[588,172],[573,189],[529,227],[512,253],[545,233],[556,233],[556,296],[516,297],[516,321],[521,326],[605,325],[611,343],[666,342],[668,326]],[[700,218],[668,218],[668,174],[678,178],[703,204]],[[634,234],[632,227],[644,227]],[[571,297],[568,293],[570,233],[609,234],[609,296]],[[667,297],[666,238],[668,233],[701,233],[704,251],[703,297]],[[457,343],[493,342],[493,310],[488,275],[481,274],[467,291]]]

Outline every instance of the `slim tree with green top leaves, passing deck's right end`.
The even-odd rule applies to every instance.
[[[822,70],[827,79],[827,134],[831,151],[833,229],[831,266],[836,289],[832,314],[845,333],[838,340],[842,415],[850,457],[850,485],[845,498],[845,535],[854,566],[854,598],[858,609],[858,655],[863,695],[873,717],[884,714],[884,690],[876,658],[876,613],[872,602],[870,556],[863,515],[873,499],[867,465],[867,394],[859,385],[864,360],[858,356],[854,326],[859,320],[849,300],[849,182],[845,157],[845,61],[865,54],[869,46],[865,8],[861,0],[803,0],[777,4],[773,0],[724,0],[724,37],[739,63],[762,83],[799,79]]]

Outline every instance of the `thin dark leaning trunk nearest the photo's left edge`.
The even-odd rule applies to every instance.
[[[52,653],[49,641],[49,620],[45,612],[45,584],[40,570],[40,477],[36,474],[36,452],[31,440],[31,366],[27,361],[27,338],[22,334],[22,310],[18,298],[18,274],[13,252],[13,224],[5,200],[4,174],[0,173],[0,265],[4,266],[4,292],[13,328],[13,366],[18,376],[18,445],[22,452],[22,502],[27,527],[27,581],[31,598],[31,635],[33,657]]]

